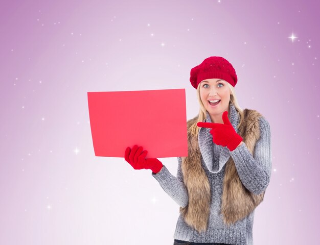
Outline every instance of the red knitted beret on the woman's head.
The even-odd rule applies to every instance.
[[[232,64],[219,56],[212,56],[202,61],[200,65],[190,71],[190,82],[197,89],[199,83],[205,79],[219,78],[227,81],[233,87],[238,78]]]

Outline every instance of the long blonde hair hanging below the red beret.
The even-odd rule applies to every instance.
[[[241,107],[238,104],[238,100],[237,100],[237,95],[235,92],[235,88],[228,82],[226,82],[226,84],[228,85],[229,89],[230,89],[230,101],[229,101],[229,106],[230,104],[233,104],[236,108],[236,111],[238,113],[238,116],[240,118],[240,122],[239,125],[237,126],[237,128],[240,127],[240,125],[243,122],[243,110],[241,109]],[[200,105],[199,108],[199,114],[198,114],[198,120],[191,126],[190,130],[191,130],[191,134],[193,136],[198,136],[198,132],[200,130],[200,128],[197,126],[197,123],[199,121],[203,121],[205,119],[205,117],[207,116],[207,110],[204,108],[204,105],[201,101],[201,97],[200,97],[200,83],[198,84],[198,88],[197,88],[197,99]]]

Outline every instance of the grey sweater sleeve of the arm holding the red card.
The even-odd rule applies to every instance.
[[[187,188],[182,181],[180,157],[178,157],[177,177],[174,177],[165,165],[158,173],[151,173],[151,175],[180,207],[184,208],[188,205],[189,196]]]

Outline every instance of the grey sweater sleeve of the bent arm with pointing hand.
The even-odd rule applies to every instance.
[[[260,117],[260,139],[256,142],[254,156],[243,142],[231,152],[242,184],[254,194],[267,188],[271,175],[270,125]]]

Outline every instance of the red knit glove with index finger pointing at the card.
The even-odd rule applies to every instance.
[[[225,111],[222,114],[222,120],[224,124],[215,124],[213,122],[198,122],[197,126],[202,128],[210,128],[212,134],[212,141],[216,144],[226,146],[230,151],[237,148],[242,137],[237,134],[233,128],[231,122],[228,119],[228,112]]]

